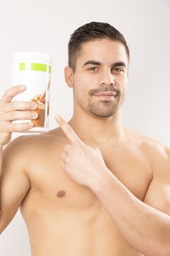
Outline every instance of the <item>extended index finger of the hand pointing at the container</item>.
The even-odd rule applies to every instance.
[[[82,140],[77,136],[77,134],[74,132],[74,129],[67,124],[67,122],[61,117],[61,116],[55,116],[56,121],[58,122],[58,125],[61,127],[63,132],[65,133],[66,137],[71,141],[71,143],[82,145],[84,144]]]

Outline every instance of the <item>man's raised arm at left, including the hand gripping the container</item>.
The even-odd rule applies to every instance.
[[[12,124],[16,119],[33,119],[33,102],[11,102],[12,97],[26,90],[26,86],[13,86],[0,99],[0,233],[14,217],[30,187],[24,171],[21,140],[12,141],[12,132],[23,132],[33,127],[32,122]],[[34,104],[34,105],[33,105]],[[37,116],[36,116],[37,117]]]

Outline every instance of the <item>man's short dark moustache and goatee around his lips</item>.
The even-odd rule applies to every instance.
[[[95,97],[93,97],[93,94],[97,94],[99,92],[103,91],[112,91],[115,92],[116,96],[114,96],[114,99],[111,100],[98,100]],[[88,110],[90,113],[92,113],[94,116],[97,117],[109,117],[114,116],[117,110],[120,108],[120,101],[121,101],[121,91],[115,89],[114,87],[105,87],[100,89],[92,89],[88,92],[88,95],[90,96],[88,99]]]

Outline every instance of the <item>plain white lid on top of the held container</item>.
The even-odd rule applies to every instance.
[[[12,61],[17,59],[39,59],[42,61],[51,62],[51,56],[47,53],[37,53],[37,52],[18,52],[12,54]]]

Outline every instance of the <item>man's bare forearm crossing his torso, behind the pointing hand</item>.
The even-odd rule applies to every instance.
[[[169,256],[169,215],[143,203],[111,172],[106,173],[91,189],[128,243],[146,256]]]

